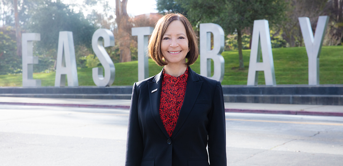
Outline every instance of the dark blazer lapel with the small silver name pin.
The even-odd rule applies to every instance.
[[[163,80],[163,69],[160,73],[158,73],[155,76],[155,78],[151,82],[148,81],[148,88],[149,88],[148,92],[149,92],[152,116],[154,117],[158,127],[161,128],[162,132],[166,135],[167,138],[169,138],[169,135],[159,115],[159,101],[161,99],[162,80]]]

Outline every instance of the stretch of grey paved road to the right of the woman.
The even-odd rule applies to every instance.
[[[226,115],[228,165],[342,166],[342,117]]]

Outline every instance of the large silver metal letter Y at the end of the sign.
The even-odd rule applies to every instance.
[[[315,36],[313,36],[310,19],[308,17],[298,19],[308,57],[308,85],[319,85],[319,55],[329,16],[319,16]]]

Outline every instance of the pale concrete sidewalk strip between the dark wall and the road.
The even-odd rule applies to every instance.
[[[0,97],[0,104],[129,109],[130,100]],[[225,103],[225,112],[343,116],[343,105]]]

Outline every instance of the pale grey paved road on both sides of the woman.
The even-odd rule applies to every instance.
[[[0,105],[0,165],[124,165],[128,110]],[[341,166],[343,117],[226,113],[229,166]]]

